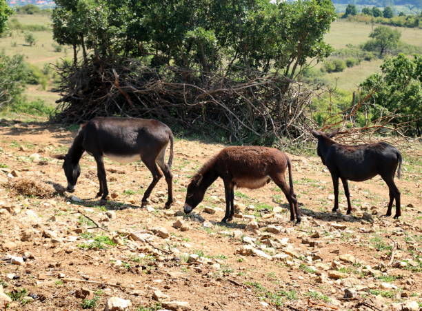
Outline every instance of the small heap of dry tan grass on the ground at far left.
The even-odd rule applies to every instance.
[[[4,187],[14,194],[20,194],[25,197],[37,197],[39,199],[56,197],[57,194],[64,192],[64,189],[59,187],[52,188],[51,185],[47,185],[42,181],[27,177],[12,179],[12,181],[4,184]]]

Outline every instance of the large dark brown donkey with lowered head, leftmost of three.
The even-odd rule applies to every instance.
[[[114,161],[130,163],[141,159],[152,174],[152,182],[143,194],[142,207],[148,201],[152,189],[159,179],[165,176],[168,186],[168,200],[165,208],[170,208],[173,202],[172,172],[173,134],[164,123],[152,119],[97,117],[84,123],[74,138],[68,154],[54,156],[64,160],[63,170],[68,180],[68,192],[74,192],[81,168],[79,160],[83,152],[88,152],[97,162],[97,176],[101,203],[105,203],[108,196],[106,170],[103,157]],[[165,148],[170,141],[170,156],[168,163],[164,163]],[[160,172],[158,166],[161,168]]]

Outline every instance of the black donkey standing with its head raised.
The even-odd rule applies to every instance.
[[[334,208],[332,212],[336,212],[339,208],[339,178],[343,183],[344,193],[348,199],[347,214],[350,214],[352,205],[350,205],[348,180],[365,181],[379,174],[387,183],[390,191],[390,202],[385,216],[391,216],[392,204],[396,199],[394,219],[398,219],[401,216],[400,191],[394,183],[394,172],[396,172],[397,164],[399,164],[397,177],[400,178],[403,160],[399,150],[383,142],[358,146],[341,145],[332,140],[332,137],[338,132],[338,130],[334,130],[334,132],[327,134],[312,130],[312,135],[318,139],[318,155],[321,157],[323,165],[330,170],[334,185]]]

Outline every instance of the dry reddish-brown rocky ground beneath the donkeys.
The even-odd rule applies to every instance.
[[[221,145],[176,141],[176,202],[164,210],[164,180],[150,205],[139,207],[151,180],[141,163],[106,160],[106,205],[94,199],[99,185],[89,156],[81,160],[76,192],[54,194],[66,178],[61,161],[50,156],[66,152],[75,132],[3,120],[0,134],[0,310],[422,306],[420,145],[405,152],[403,177],[396,179],[399,220],[383,217],[388,188],[379,177],[350,183],[352,216],[344,214],[343,192],[340,211],[332,214],[331,178],[321,160],[291,156],[302,223],[288,221],[285,197],[270,183],[238,189],[239,210],[226,225],[219,223],[221,181],[194,214],[181,212],[190,177]],[[19,183],[32,187],[30,196],[12,187]]]

